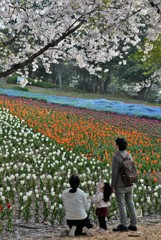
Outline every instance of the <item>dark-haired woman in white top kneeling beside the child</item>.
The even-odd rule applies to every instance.
[[[67,188],[62,193],[66,221],[70,229],[70,231],[66,230],[66,235],[70,237],[84,234],[93,236],[92,232],[89,230],[93,225],[90,223],[86,212],[90,208],[90,203],[86,193],[78,187],[80,184],[79,177],[77,175],[72,175],[69,179],[69,184],[70,188]]]

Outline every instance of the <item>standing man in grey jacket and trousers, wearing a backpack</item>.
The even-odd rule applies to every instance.
[[[127,232],[137,231],[137,218],[135,212],[135,206],[133,202],[133,184],[125,185],[121,179],[121,174],[119,172],[120,166],[123,159],[128,155],[127,142],[124,138],[116,139],[116,154],[112,160],[112,183],[111,187],[116,195],[116,201],[118,204],[119,214],[120,214],[120,225],[113,228],[113,231]],[[130,225],[127,223],[127,211],[130,215]]]

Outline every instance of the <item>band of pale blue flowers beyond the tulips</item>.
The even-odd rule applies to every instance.
[[[41,100],[44,99],[50,103],[58,103],[63,105],[65,104],[79,108],[95,109],[97,111],[107,111],[131,116],[161,119],[161,107],[146,106],[143,104],[123,103],[120,101],[109,101],[106,99],[69,98],[65,96],[52,96],[3,88],[0,88],[0,94],[15,97],[20,96],[27,98],[37,98]]]

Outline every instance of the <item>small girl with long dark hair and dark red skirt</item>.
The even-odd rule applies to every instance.
[[[108,214],[108,201],[111,194],[111,186],[108,183],[104,183],[103,180],[100,180],[97,185],[96,194],[91,197],[91,201],[96,207],[96,215],[99,222],[99,228],[96,231],[99,233],[105,233],[107,230],[105,218]]]

